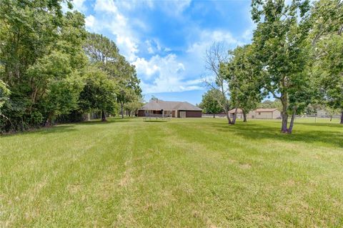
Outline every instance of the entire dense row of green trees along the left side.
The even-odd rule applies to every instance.
[[[71,4],[66,1],[71,9]],[[0,1],[0,132],[133,114],[136,69],[113,41],[90,34],[62,0]]]

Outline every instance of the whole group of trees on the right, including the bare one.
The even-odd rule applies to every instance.
[[[343,1],[252,0],[252,19],[252,44],[207,50],[212,77],[204,81],[217,91],[212,98],[225,112],[247,114],[272,94],[282,133],[292,133],[295,115],[316,105],[339,110],[343,124]],[[227,114],[228,123],[235,117]]]

